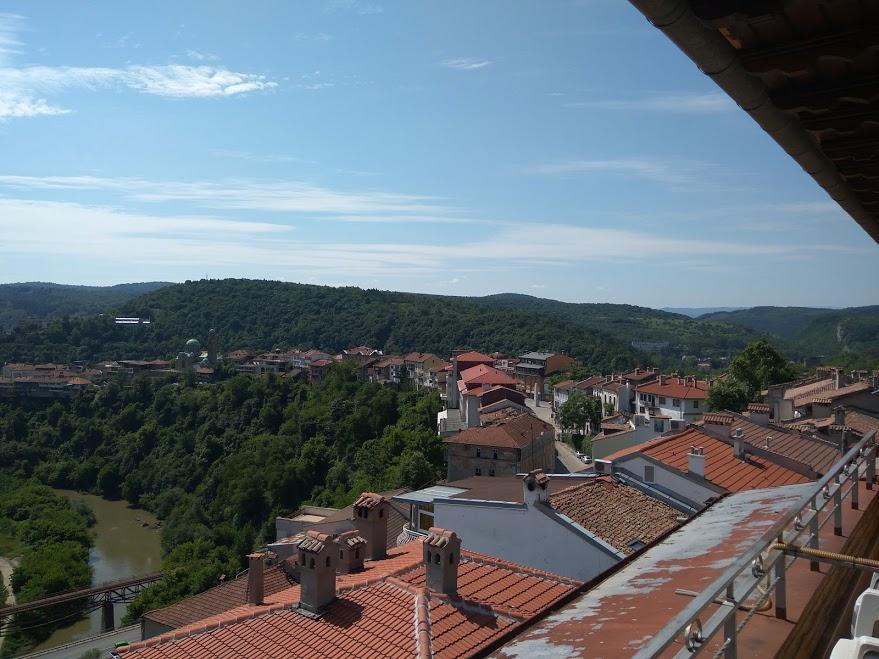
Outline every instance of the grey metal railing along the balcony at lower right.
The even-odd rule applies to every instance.
[[[683,647],[674,656],[680,659],[691,657],[706,651],[709,641],[723,630],[723,641],[714,648],[713,654],[735,659],[739,634],[771,596],[775,597],[775,616],[785,619],[787,569],[797,557],[788,560],[789,553],[781,546],[818,550],[821,529],[831,519],[834,534],[842,535],[843,501],[848,499],[851,507],[857,509],[861,476],[868,490],[872,490],[876,483],[875,436],[876,432],[871,431],[852,446],[788,512],[670,620],[636,657],[655,657],[668,651],[680,639],[683,639]],[[828,505],[831,509],[821,519]],[[811,569],[817,571],[816,557],[810,558]],[[761,589],[756,600],[749,600],[761,582],[767,582],[768,587]],[[740,608],[747,614],[738,621],[736,612]]]

